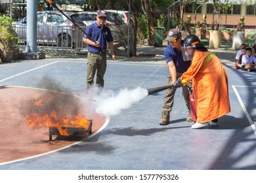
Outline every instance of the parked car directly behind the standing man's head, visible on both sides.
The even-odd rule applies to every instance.
[[[98,12],[87,11],[87,12],[79,12],[79,14],[80,14],[81,20],[83,20],[83,23],[88,26],[96,22],[96,16]],[[106,20],[105,25],[110,27],[110,25],[121,25],[121,24],[124,24],[124,22],[119,16],[119,14],[117,14],[116,12],[108,12],[108,18]]]

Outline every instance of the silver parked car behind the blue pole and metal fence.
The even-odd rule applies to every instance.
[[[79,27],[85,26],[79,14],[64,13]],[[37,43],[71,47],[72,44],[81,41],[83,33],[66,16],[54,10],[37,12]],[[20,42],[26,42],[27,18],[14,22],[13,25]]]

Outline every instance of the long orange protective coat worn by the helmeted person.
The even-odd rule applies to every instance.
[[[196,122],[204,123],[230,112],[228,77],[217,56],[205,59],[211,52],[196,50],[192,64],[181,76],[182,85],[192,80],[196,101]]]

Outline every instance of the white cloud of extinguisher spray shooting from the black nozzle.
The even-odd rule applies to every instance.
[[[125,88],[118,93],[93,87],[87,93],[87,97],[95,103],[95,112],[104,116],[117,115],[121,110],[131,107],[147,95],[148,90],[140,87],[133,90]]]

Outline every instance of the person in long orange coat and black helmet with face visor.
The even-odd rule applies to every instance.
[[[218,125],[218,118],[230,112],[228,77],[219,58],[209,52],[196,35],[184,40],[182,54],[192,63],[175,84],[186,86],[192,80],[197,120],[193,129]]]

